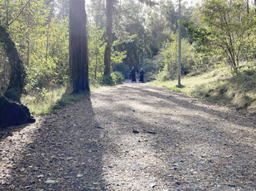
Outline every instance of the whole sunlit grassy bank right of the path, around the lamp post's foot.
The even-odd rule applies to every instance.
[[[198,76],[183,77],[183,88],[176,87],[177,81],[153,81],[149,84],[256,115],[256,66],[253,64],[242,68],[238,76],[232,76],[228,68],[219,68]]]

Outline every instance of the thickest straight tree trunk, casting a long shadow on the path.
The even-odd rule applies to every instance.
[[[69,56],[73,93],[90,91],[88,83],[87,16],[84,0],[69,1]]]

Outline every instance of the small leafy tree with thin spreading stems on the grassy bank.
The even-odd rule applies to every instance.
[[[248,13],[243,0],[204,0],[199,13],[208,34],[207,48],[215,56],[225,56],[238,72],[239,61],[255,54],[255,12]]]

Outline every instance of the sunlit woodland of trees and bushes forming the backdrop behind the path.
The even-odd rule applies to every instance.
[[[2,0],[0,6],[1,27],[23,61],[22,99],[33,113],[48,113],[49,109],[39,108],[37,103],[54,105],[73,83],[68,39],[69,32],[79,29],[69,25],[69,2]],[[143,68],[145,81],[160,83],[177,78],[178,1],[92,0],[86,2],[85,10],[86,21],[80,25],[86,25],[90,86],[121,83],[132,67],[137,72]],[[220,68],[228,79],[242,73],[254,78],[255,15],[255,1],[212,0],[192,5],[182,1],[182,76]],[[12,74],[3,38],[1,94],[8,90]],[[255,81],[244,86],[255,90]],[[244,99],[255,109],[254,93],[249,92]]]

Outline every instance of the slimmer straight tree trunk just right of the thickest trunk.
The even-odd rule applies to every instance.
[[[111,61],[111,48],[112,48],[112,15],[113,15],[113,0],[107,0],[107,45],[104,53],[104,76],[110,76],[110,61]]]

